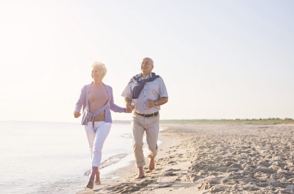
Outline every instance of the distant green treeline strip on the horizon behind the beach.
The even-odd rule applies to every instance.
[[[126,123],[131,121],[113,121],[113,123]],[[290,118],[268,118],[268,119],[182,119],[182,120],[160,120],[160,124],[294,124],[294,120]]]

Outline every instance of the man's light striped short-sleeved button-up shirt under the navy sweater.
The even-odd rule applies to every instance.
[[[151,73],[146,76],[146,79],[152,77]],[[143,80],[143,77],[140,74],[139,80]],[[123,90],[121,94],[122,97],[127,97],[131,99],[132,91],[137,84],[134,82],[128,83],[126,88]],[[146,82],[143,90],[141,91],[139,97],[137,99],[132,99],[132,104],[135,105],[135,110],[140,114],[152,114],[160,110],[160,106],[155,106],[152,108],[148,108],[147,99],[151,99],[153,101],[158,100],[161,97],[168,97],[166,86],[161,77],[153,80],[152,82]]]

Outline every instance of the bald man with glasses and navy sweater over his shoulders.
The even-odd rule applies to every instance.
[[[141,73],[132,77],[121,94],[125,97],[126,108],[133,110],[132,134],[133,152],[135,155],[138,175],[144,177],[143,166],[146,164],[143,154],[143,134],[146,131],[147,154],[149,158],[148,168],[152,171],[155,167],[154,158],[157,154],[157,138],[159,130],[160,105],[168,101],[166,86],[163,79],[152,72],[153,60],[143,58]]]

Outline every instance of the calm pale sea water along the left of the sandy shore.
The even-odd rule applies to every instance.
[[[112,124],[102,149],[101,178],[133,160],[131,146],[130,124]],[[76,193],[90,169],[81,124],[0,122],[0,193]]]

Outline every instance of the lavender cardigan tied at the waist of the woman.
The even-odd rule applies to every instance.
[[[87,125],[88,119],[92,120],[93,117],[95,117],[96,115],[98,115],[99,113],[101,113],[104,110],[105,110],[105,122],[107,122],[107,123],[112,123],[110,110],[112,110],[113,112],[126,112],[125,108],[119,107],[116,104],[114,104],[114,102],[113,102],[113,94],[112,94],[112,87],[104,84],[105,87],[106,87],[106,90],[108,92],[109,99],[108,99],[107,103],[103,107],[101,107],[100,109],[98,109],[95,112],[91,113],[89,111],[90,108],[89,108],[89,103],[88,103],[88,92],[89,92],[91,84],[85,85],[82,88],[80,98],[78,99],[78,102],[76,103],[76,107],[74,109],[74,112],[76,112],[76,111],[81,110],[81,108],[83,106],[82,125]],[[94,129],[94,119],[93,119],[92,125],[93,125],[93,129]]]

